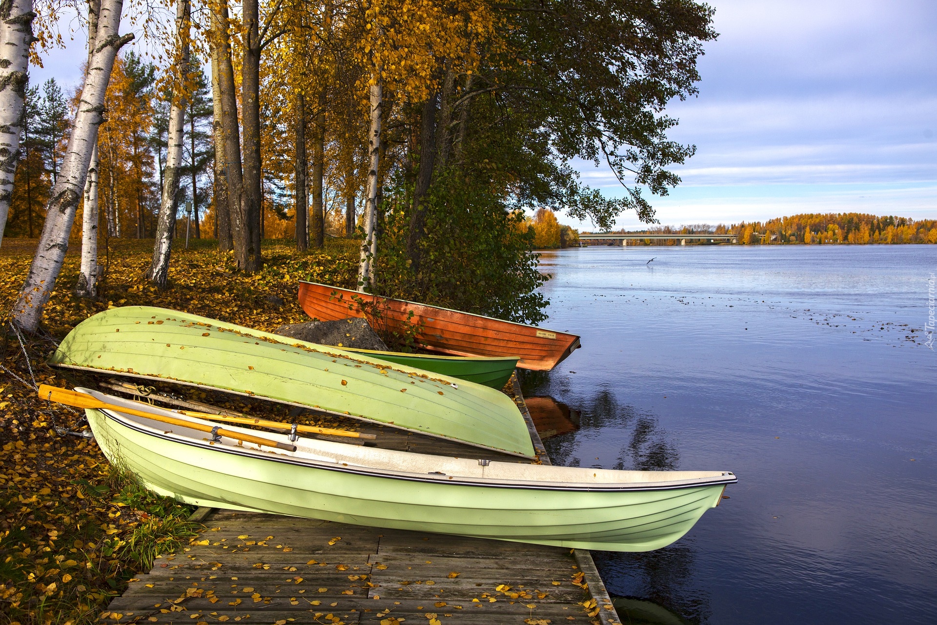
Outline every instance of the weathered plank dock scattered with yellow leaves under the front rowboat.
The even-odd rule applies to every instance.
[[[548,464],[516,378],[511,385],[539,461]],[[380,431],[382,447],[457,451],[442,448],[445,441]],[[201,535],[183,553],[156,558],[104,620],[618,624],[587,551],[204,508],[193,518],[205,525]]]

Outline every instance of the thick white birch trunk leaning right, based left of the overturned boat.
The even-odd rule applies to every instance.
[[[46,205],[46,225],[42,229],[36,257],[29,267],[29,275],[13,305],[13,320],[26,332],[36,332],[42,319],[42,308],[49,301],[62,270],[68,234],[84,190],[91,153],[97,144],[97,128],[103,121],[104,95],[111,81],[114,58],[121,47],[133,39],[132,33],[124,37],[117,34],[123,5],[123,0],[101,2],[97,46],[84,77],[82,97],[75,112],[62,169]]]

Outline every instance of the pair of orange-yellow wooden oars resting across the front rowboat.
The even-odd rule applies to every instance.
[[[138,417],[144,417],[146,419],[153,419],[154,421],[159,421],[164,424],[178,425],[180,427],[188,427],[194,430],[199,430],[200,432],[209,432],[213,435],[228,437],[229,439],[241,440],[243,442],[251,442],[255,445],[265,445],[267,447],[276,447],[278,449],[285,449],[288,452],[295,452],[296,445],[290,445],[289,443],[277,442],[271,439],[263,439],[260,437],[251,436],[249,434],[242,434],[241,432],[232,432],[231,430],[225,430],[218,427],[213,427],[206,424],[197,424],[186,419],[177,419],[175,417],[168,417],[161,414],[155,414],[147,410],[138,410],[133,408],[126,408],[125,406],[118,406],[115,404],[109,404],[105,401],[101,401],[96,397],[93,397],[90,394],[78,393],[77,391],[68,391],[67,389],[60,389],[56,386],[49,386],[48,384],[40,384],[38,395],[41,399],[48,399],[49,401],[54,401],[59,404],[65,404],[67,406],[72,406],[74,408],[82,409],[109,409],[116,410],[118,412],[124,412],[126,414],[132,414]],[[145,404],[149,406],[149,404]],[[277,421],[266,421],[264,419],[252,419],[249,417],[223,417],[217,414],[211,414],[208,412],[193,412],[190,410],[171,410],[177,414],[181,414],[186,417],[195,417],[198,419],[206,419],[210,421],[223,421],[233,424],[248,424],[248,425],[258,425],[260,427],[266,427],[269,429],[283,429],[283,430],[292,430],[293,424],[283,424]],[[347,430],[336,430],[328,427],[316,427],[314,425],[296,425],[297,432],[304,432],[309,434],[328,434],[333,436],[343,436],[350,437],[353,439],[376,439],[373,434],[362,434],[360,432],[349,432]]]

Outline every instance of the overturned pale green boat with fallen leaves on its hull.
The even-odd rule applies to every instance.
[[[535,455],[513,401],[486,386],[166,308],[98,313],[68,333],[51,363],[208,387]]]

